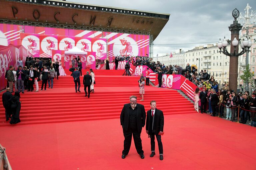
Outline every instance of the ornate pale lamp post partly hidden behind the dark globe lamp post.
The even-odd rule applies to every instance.
[[[240,16],[238,18],[238,20],[242,20],[243,19],[243,26],[246,27],[246,38],[248,39],[249,36],[249,25],[251,24],[250,20],[252,18],[254,18],[253,23],[255,23],[255,19],[256,19],[256,11],[251,11],[251,14],[249,12],[249,9],[251,9],[252,7],[249,6],[249,4],[247,4],[247,6],[245,7],[245,14],[244,13],[240,13]],[[239,21],[238,21],[239,23]],[[246,49],[246,65],[249,64],[249,48]],[[245,90],[249,90],[249,83],[248,81],[246,81],[246,85],[245,85]]]

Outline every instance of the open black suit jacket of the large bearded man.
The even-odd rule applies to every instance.
[[[130,116],[130,107],[131,104],[125,104],[122,111],[121,111],[121,115],[120,115],[120,122],[121,125],[123,127],[124,130],[128,130],[128,126],[129,126],[129,116]],[[145,108],[143,105],[141,104],[137,104],[136,106],[137,108],[137,128],[138,131],[141,132],[142,127],[145,126],[145,122],[146,122],[146,112],[145,112]]]

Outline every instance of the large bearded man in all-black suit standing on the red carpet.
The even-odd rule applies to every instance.
[[[140,155],[141,159],[144,159],[140,133],[142,127],[145,126],[146,113],[144,106],[137,104],[136,96],[131,96],[130,103],[124,105],[121,111],[120,121],[124,134],[124,150],[122,151],[122,159],[124,159],[129,153],[132,136],[137,153]]]

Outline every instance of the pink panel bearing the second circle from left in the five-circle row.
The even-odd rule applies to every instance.
[[[52,57],[52,50],[58,50],[58,36],[40,35],[40,57]]]

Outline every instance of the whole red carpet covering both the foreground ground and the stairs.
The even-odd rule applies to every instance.
[[[140,159],[133,142],[121,159],[124,137],[119,116],[129,96],[138,96],[139,77],[105,71],[95,71],[90,99],[83,90],[74,92],[71,76],[55,80],[53,89],[22,94],[22,122],[15,126],[5,122],[0,108],[0,143],[14,170],[255,169],[256,128],[195,113],[193,104],[175,90],[151,86],[145,87],[145,101],[138,103],[148,110],[154,99],[164,111],[164,160],[159,160],[157,144],[156,155],[149,157],[145,128],[141,135],[145,159]],[[130,80],[135,83],[125,84]],[[104,83],[112,86],[103,87]]]

